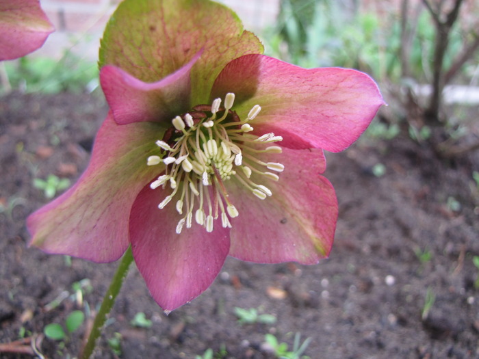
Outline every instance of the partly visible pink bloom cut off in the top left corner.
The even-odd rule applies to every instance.
[[[35,51],[53,31],[38,0],[0,0],[0,61]]]

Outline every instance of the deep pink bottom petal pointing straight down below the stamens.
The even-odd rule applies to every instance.
[[[131,248],[136,265],[155,301],[166,311],[203,293],[218,275],[229,251],[229,229],[216,221],[213,232],[194,222],[177,234],[181,219],[174,200],[158,209],[171,189],[146,186],[130,217]]]

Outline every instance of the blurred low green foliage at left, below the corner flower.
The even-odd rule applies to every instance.
[[[21,92],[91,92],[99,83],[96,64],[71,51],[61,59],[26,56],[4,64],[11,88]]]

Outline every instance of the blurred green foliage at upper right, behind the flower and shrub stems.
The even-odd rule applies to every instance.
[[[400,47],[403,44],[399,14],[390,12],[380,16],[376,12],[359,12],[354,3],[346,0],[281,0],[278,24],[266,34],[272,39],[268,41],[268,52],[307,68],[357,68],[370,73],[378,81],[400,81]],[[446,68],[460,51],[465,37],[473,36],[464,34],[458,23],[450,34]],[[418,82],[431,80],[435,36],[432,18],[423,9],[415,24],[408,59],[411,77]],[[475,58],[479,61],[478,54]],[[472,74],[467,66],[463,72]]]

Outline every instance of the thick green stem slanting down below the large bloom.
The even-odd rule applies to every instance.
[[[96,339],[99,338],[101,334],[101,328],[103,328],[103,325],[105,324],[107,315],[113,308],[116,296],[118,293],[120,293],[123,280],[125,280],[125,277],[127,276],[131,262],[133,262],[133,254],[131,254],[131,247],[129,247],[127,252],[125,252],[123,255],[118,269],[116,269],[116,273],[112,279],[112,282],[109,284],[109,288],[107,293],[105,293],[105,297],[103,297],[103,302],[101,302],[100,310],[96,314],[90,336],[88,336],[88,341],[86,342],[85,347],[83,347],[83,352],[79,355],[79,358],[88,359],[92,355]]]

